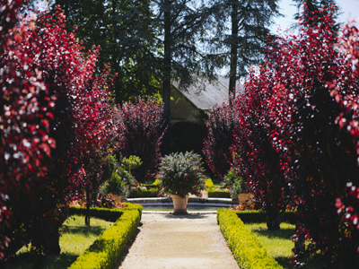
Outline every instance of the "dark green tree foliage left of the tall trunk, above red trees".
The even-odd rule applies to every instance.
[[[99,70],[111,65],[116,100],[161,90],[158,56],[162,44],[157,39],[156,25],[150,0],[54,0],[63,9],[67,30],[77,28],[87,51],[92,45],[101,46]]]

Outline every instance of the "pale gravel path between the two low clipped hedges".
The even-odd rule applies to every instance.
[[[143,213],[122,269],[239,268],[215,214]]]

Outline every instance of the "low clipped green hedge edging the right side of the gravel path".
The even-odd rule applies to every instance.
[[[258,242],[256,236],[248,230],[236,212],[228,209],[218,210],[217,222],[241,268],[283,268],[267,254],[266,248]]]

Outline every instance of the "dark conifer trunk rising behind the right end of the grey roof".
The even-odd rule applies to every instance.
[[[230,70],[230,89],[229,92],[235,95],[237,82],[237,62],[238,62],[238,1],[232,2],[232,43],[231,43],[231,70]]]

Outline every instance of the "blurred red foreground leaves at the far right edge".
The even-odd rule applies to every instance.
[[[355,22],[346,23],[342,30],[337,48],[346,58],[346,63],[341,66],[337,80],[329,82],[328,86],[330,96],[341,108],[336,123],[351,135],[356,153],[359,154],[359,30]],[[357,163],[359,165],[359,158]],[[359,178],[347,178],[346,181],[345,194],[337,196],[337,213],[350,230],[347,236],[356,242],[353,247],[357,247],[359,253]],[[358,264],[358,259],[356,262]]]

